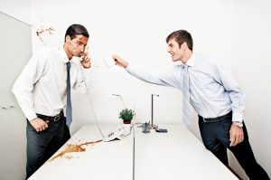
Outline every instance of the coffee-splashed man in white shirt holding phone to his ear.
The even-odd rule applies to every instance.
[[[70,25],[64,45],[34,53],[14,83],[14,95],[27,118],[26,178],[70,138],[70,123],[63,112],[70,90],[67,87],[87,92],[79,66],[88,76],[90,59],[85,52],[88,41],[89,33],[83,25]],[[74,56],[81,59],[80,63],[72,59]],[[71,115],[71,105],[69,110]]]

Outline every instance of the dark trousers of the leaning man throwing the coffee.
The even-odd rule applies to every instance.
[[[266,171],[257,164],[252,148],[248,141],[248,131],[244,124],[244,141],[235,147],[229,147],[229,129],[232,116],[227,116],[220,122],[203,122],[199,117],[199,127],[204,146],[209,149],[220,161],[229,167],[227,148],[236,156],[238,163],[245,170],[251,180],[269,180]]]

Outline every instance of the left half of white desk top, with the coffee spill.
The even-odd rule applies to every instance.
[[[101,126],[106,136],[119,126]],[[53,156],[65,149],[67,144],[81,144],[102,139],[97,126],[84,126]],[[30,180],[129,180],[133,179],[133,136],[122,140],[99,142],[83,146],[84,152],[68,153],[62,157],[47,161],[29,179]],[[52,156],[52,157],[53,157]]]

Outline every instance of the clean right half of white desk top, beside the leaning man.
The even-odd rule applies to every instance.
[[[135,180],[238,179],[182,125],[167,133],[135,128]]]

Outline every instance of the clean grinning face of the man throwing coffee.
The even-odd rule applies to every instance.
[[[171,39],[167,44],[167,52],[172,55],[173,62],[182,61],[184,55],[182,45],[179,47],[179,44],[175,41],[175,39]]]

